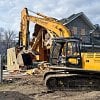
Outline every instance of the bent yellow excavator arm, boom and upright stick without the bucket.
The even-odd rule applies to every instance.
[[[28,48],[29,45],[29,22],[36,23],[46,30],[51,31],[51,37],[70,37],[69,30],[58,22],[56,19],[47,17],[40,13],[35,13],[37,16],[31,16],[28,14],[27,8],[24,8],[21,12],[21,29],[19,43],[21,46]]]

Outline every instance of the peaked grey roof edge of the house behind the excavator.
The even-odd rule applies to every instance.
[[[73,14],[68,18],[61,19],[60,21],[63,23],[63,25],[67,25],[68,23],[72,22],[78,17],[81,17],[91,28],[95,29],[95,26],[92,24],[92,22],[88,19],[88,17],[83,12]]]

